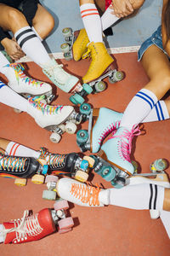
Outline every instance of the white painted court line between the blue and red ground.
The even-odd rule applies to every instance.
[[[128,53],[128,52],[137,52],[139,50],[140,46],[127,46],[127,47],[119,47],[119,48],[109,48],[108,52],[110,54],[122,54],[122,53]],[[63,53],[62,52],[56,52],[53,54],[49,54],[51,57],[53,56],[54,59],[64,59]],[[31,61],[30,58],[23,57],[17,62],[29,62]]]

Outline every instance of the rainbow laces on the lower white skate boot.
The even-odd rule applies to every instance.
[[[37,108],[42,111],[42,113],[47,113],[47,114],[55,114],[58,113],[59,110],[63,108],[62,105],[55,105],[55,106],[50,106],[48,104],[45,104],[41,102],[43,100],[43,96],[35,96],[35,97],[29,97],[28,101],[31,103],[33,108]]]

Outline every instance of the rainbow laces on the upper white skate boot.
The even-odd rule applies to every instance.
[[[22,81],[24,81],[25,83],[29,84],[29,85],[36,85],[36,86],[42,86],[42,82],[38,81],[36,79],[31,79],[29,77],[26,76],[25,73],[23,73],[23,71],[25,70],[25,68],[22,66],[22,64],[18,64],[18,63],[11,63],[8,64],[7,67],[13,67],[14,68],[14,73],[15,73],[15,77],[17,79],[17,81],[19,81],[19,79],[21,79]]]

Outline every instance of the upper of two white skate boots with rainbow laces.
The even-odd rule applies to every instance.
[[[27,77],[21,64],[11,63],[6,65],[4,69],[8,86],[20,95],[25,97],[44,95],[48,103],[54,99],[51,85]]]

